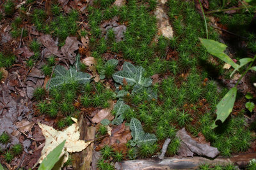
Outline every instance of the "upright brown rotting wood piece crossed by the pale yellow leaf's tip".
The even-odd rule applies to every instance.
[[[95,137],[95,127],[88,127],[86,118],[81,116],[78,122],[81,140],[93,139]],[[91,143],[85,150],[72,154],[72,167],[75,170],[83,169],[90,170],[92,162],[93,143]]]

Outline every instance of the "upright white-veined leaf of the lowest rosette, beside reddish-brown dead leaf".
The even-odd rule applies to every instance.
[[[140,120],[137,118],[132,118],[130,122],[130,129],[133,141],[137,142],[141,139],[141,136],[144,136],[144,131],[142,129],[142,125]]]

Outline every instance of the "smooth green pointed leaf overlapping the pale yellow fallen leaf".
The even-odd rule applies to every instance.
[[[38,170],[49,170],[49,169],[52,169],[52,167],[54,167],[56,162],[58,162],[58,160],[60,159],[60,154],[63,150],[65,142],[66,140],[63,141],[60,145],[58,145],[56,148],[54,148],[54,150],[52,150],[47,155],[47,157],[45,157],[45,159],[42,161],[42,163],[38,167]]]

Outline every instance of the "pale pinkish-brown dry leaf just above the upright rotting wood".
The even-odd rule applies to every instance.
[[[110,107],[109,108],[104,108],[100,110],[93,118],[92,122],[93,123],[99,123],[101,120],[104,118],[107,118],[108,120],[113,120],[114,116],[111,114],[111,111],[113,110],[114,107],[114,101],[108,101]]]

